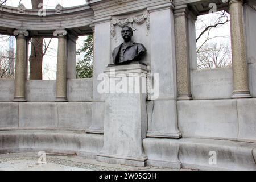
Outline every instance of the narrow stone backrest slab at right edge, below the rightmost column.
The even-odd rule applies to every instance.
[[[256,143],[256,99],[237,100],[238,140]]]

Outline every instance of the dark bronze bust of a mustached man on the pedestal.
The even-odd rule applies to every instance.
[[[114,64],[128,64],[131,61],[139,61],[146,52],[146,48],[143,44],[135,43],[131,40],[133,36],[133,29],[131,27],[123,27],[121,34],[124,42],[114,48],[112,53]]]

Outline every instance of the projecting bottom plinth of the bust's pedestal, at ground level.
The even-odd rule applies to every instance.
[[[112,164],[125,164],[131,166],[145,167],[147,166],[147,156],[141,157],[128,157],[128,156],[117,156],[108,154],[98,154],[96,160],[100,162],[112,163]]]

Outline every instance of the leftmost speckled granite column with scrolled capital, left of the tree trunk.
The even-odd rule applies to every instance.
[[[16,36],[16,63],[15,63],[15,91],[14,101],[26,101],[26,78],[27,78],[27,36],[26,30],[15,30]]]

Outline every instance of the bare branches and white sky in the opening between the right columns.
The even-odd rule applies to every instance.
[[[214,29],[216,31],[217,28],[221,28],[230,21],[228,13],[220,11],[215,15],[216,18],[211,20],[204,20],[203,18],[197,20],[197,31],[200,31],[196,38],[197,68],[199,69],[230,67],[232,65],[230,45],[213,41],[216,38],[228,38],[228,36],[215,34],[211,36],[210,34]],[[201,24],[201,26],[198,24]]]

